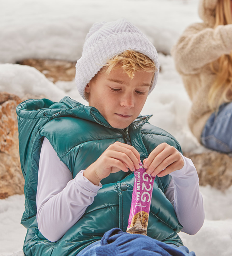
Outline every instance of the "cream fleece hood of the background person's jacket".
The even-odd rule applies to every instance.
[[[215,8],[217,2],[218,0],[200,0],[199,3],[199,16],[210,27],[213,27],[215,24]]]

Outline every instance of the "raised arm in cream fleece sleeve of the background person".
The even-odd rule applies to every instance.
[[[215,29],[204,23],[189,26],[171,49],[176,69],[182,74],[196,74],[201,67],[232,50],[232,24]]]

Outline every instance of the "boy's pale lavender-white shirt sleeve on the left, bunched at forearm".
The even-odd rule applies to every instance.
[[[80,171],[73,179],[48,139],[44,137],[39,158],[36,194],[38,229],[46,239],[60,239],[92,204],[102,184],[94,185]]]

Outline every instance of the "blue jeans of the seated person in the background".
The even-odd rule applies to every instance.
[[[232,152],[232,102],[224,103],[212,113],[201,133],[201,143],[222,153]]]

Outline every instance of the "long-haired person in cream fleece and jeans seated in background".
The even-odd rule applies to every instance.
[[[202,23],[189,26],[172,48],[192,101],[188,123],[210,149],[232,152],[232,0],[200,0]]]

